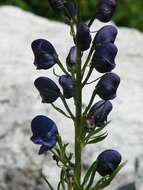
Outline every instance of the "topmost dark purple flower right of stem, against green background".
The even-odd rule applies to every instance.
[[[96,18],[101,22],[109,22],[115,12],[116,0],[99,0]]]

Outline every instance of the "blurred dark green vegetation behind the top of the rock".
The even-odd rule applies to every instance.
[[[97,0],[81,0],[85,20],[94,14],[96,2]],[[55,17],[55,13],[48,5],[48,0],[0,0],[0,5],[4,4],[16,5],[40,16],[61,20],[59,15]],[[118,0],[114,21],[117,25],[134,27],[143,31],[143,0]]]

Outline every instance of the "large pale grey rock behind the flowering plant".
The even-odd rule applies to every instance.
[[[43,158],[37,155],[38,147],[29,140],[30,121],[37,114],[47,114],[55,120],[64,140],[71,143],[71,148],[73,127],[50,106],[41,104],[33,86],[34,79],[41,75],[57,79],[52,70],[35,70],[30,44],[36,38],[46,38],[54,44],[64,61],[72,44],[69,28],[15,7],[1,7],[0,18],[0,189],[44,190],[47,188],[39,177],[40,168],[53,184],[58,172],[50,156]],[[92,30],[100,26],[96,22]],[[114,72],[121,76],[122,82],[118,97],[113,101],[109,136],[98,147],[90,146],[83,155],[85,164],[89,164],[102,150],[115,148],[122,153],[123,160],[128,160],[109,189],[134,182],[135,158],[143,151],[142,44],[142,33],[119,28],[119,54]],[[60,73],[58,68],[56,72]],[[94,72],[90,80],[95,76],[98,74]],[[90,85],[83,93],[85,104],[89,100],[87,92],[92,89],[93,85]],[[61,106],[59,101],[57,104]],[[71,101],[69,104],[72,106]],[[136,190],[141,190],[136,187]]]

